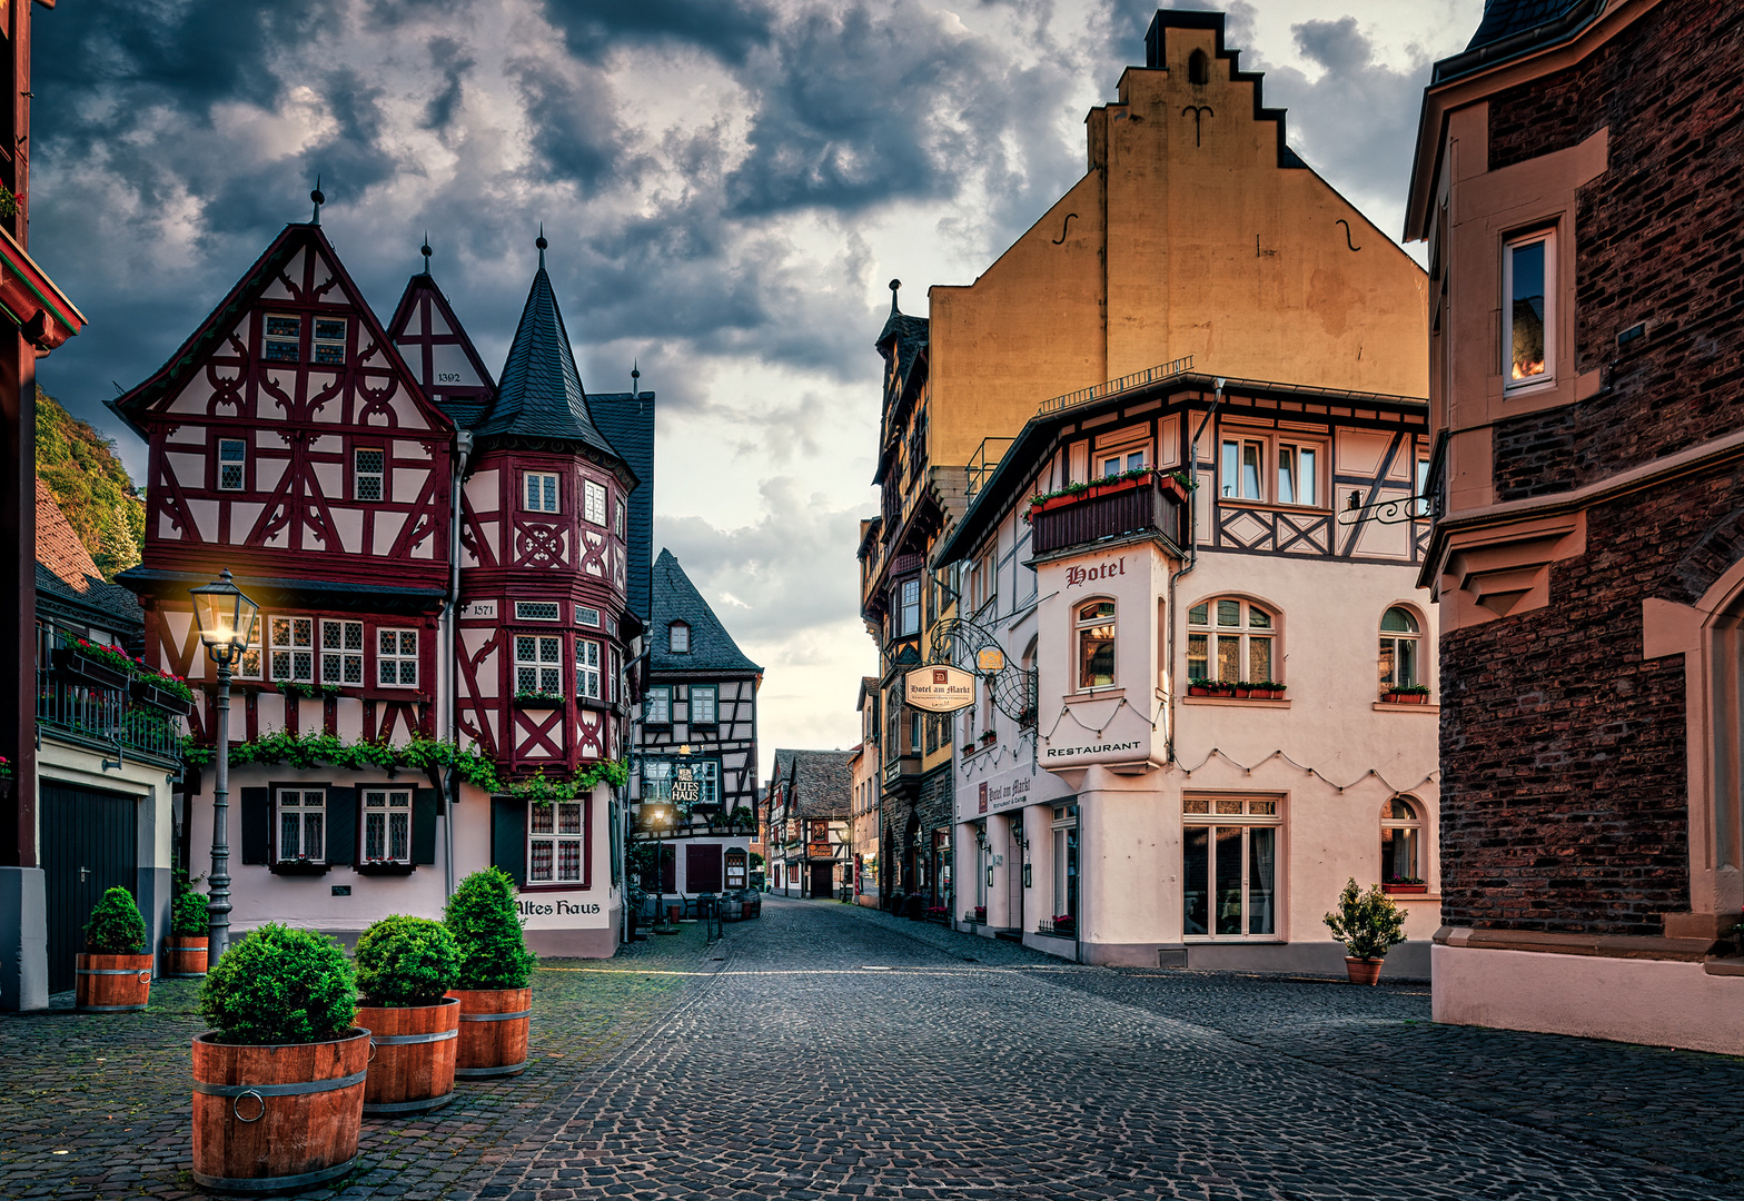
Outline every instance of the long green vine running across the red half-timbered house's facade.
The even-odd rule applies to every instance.
[[[213,748],[183,737],[181,760],[197,765],[211,763]],[[345,743],[331,734],[274,730],[248,743],[230,744],[230,765],[241,767],[244,763],[262,767],[286,763],[296,770],[331,765],[358,772],[385,770],[389,776],[399,770],[422,772],[433,767],[452,767],[455,776],[474,788],[499,797],[530,800],[535,805],[574,800],[602,781],[614,788],[624,788],[630,783],[630,769],[621,760],[593,763],[569,779],[546,776],[541,769],[530,779],[504,781],[497,774],[495,762],[487,755],[434,737],[417,737],[405,746],[394,746],[370,741]]]

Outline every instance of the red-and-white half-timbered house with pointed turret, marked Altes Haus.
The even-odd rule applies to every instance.
[[[623,755],[638,479],[591,420],[544,239],[501,385],[427,270],[384,328],[310,221],[113,408],[150,443],[122,577],[146,657],[209,694],[188,589],[228,567],[262,607],[230,723],[234,924],[434,915],[495,863],[530,945],[612,953],[621,826],[596,767]],[[208,695],[195,741],[211,720]],[[427,765],[441,743],[478,760]],[[188,790],[190,851],[206,800]]]

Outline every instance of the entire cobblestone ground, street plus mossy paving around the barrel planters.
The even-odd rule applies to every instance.
[[[719,959],[717,959],[719,957]],[[1106,971],[821,901],[535,981],[534,1069],[321,1198],[1735,1198],[1744,1062]],[[0,1021],[0,1196],[187,1192],[192,985]],[[65,1156],[56,1156],[65,1150]]]

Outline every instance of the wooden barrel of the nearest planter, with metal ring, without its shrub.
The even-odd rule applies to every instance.
[[[279,1192],[358,1164],[370,1032],[330,1042],[232,1046],[194,1039],[194,1180],[215,1192]]]

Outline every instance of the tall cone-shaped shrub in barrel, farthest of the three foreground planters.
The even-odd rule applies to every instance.
[[[443,924],[460,950],[460,978],[448,995],[460,1002],[459,1077],[520,1075],[527,1070],[534,953],[521,938],[514,880],[485,868],[460,880]]]

